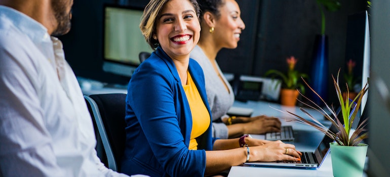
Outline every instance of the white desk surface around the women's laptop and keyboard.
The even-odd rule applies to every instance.
[[[282,106],[275,103],[268,103],[263,101],[248,101],[248,102],[235,102],[233,104],[235,107],[242,108],[251,108],[253,109],[252,116],[255,115],[267,115],[267,116],[275,116],[281,118],[282,125],[292,125],[294,129],[295,140],[292,142],[285,142],[294,144],[296,149],[299,151],[315,151],[318,144],[321,142],[323,137],[325,136],[319,130],[302,124],[298,122],[285,121],[285,119],[289,119],[287,114],[281,113],[278,110],[275,110],[271,107],[274,107],[279,110],[287,110],[290,112],[294,112],[304,118],[308,118],[303,112],[299,110],[299,107],[287,107]],[[330,126],[330,122],[325,120],[325,118],[313,109],[305,109],[310,114],[317,116],[316,118],[320,120],[325,126]],[[255,135],[252,136],[254,138],[263,139],[264,136]],[[239,176],[333,176],[332,171],[332,162],[330,153],[325,158],[323,164],[320,168],[317,169],[296,169],[296,168],[278,168],[278,167],[253,167],[253,166],[233,166],[230,169],[228,177],[239,177]],[[365,176],[365,175],[364,175]]]

